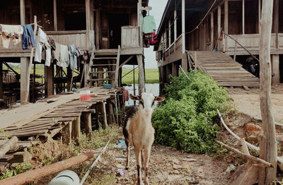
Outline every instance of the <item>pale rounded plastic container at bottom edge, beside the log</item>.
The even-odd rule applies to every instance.
[[[71,170],[64,170],[57,174],[48,185],[79,185],[79,176]]]

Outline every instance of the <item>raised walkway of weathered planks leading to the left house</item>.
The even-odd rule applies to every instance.
[[[52,106],[52,108],[50,108],[48,104],[40,104],[40,106],[48,108],[45,112],[40,112],[40,114],[36,111],[38,107],[37,103],[30,104],[29,108],[33,109],[34,112],[30,113],[30,110],[25,107],[23,112],[20,111],[21,114],[18,115],[20,117],[18,117],[18,119],[13,119],[13,121],[15,121],[14,123],[11,122],[9,125],[5,124],[5,126],[1,126],[1,128],[4,129],[4,133],[0,133],[0,139],[4,139],[7,136],[48,136],[52,138],[55,134],[59,133],[64,126],[67,124],[70,125],[73,121],[79,119],[83,112],[91,112],[93,110],[91,109],[93,105],[96,105],[98,102],[105,102],[119,91],[117,88],[108,90],[102,87],[90,88],[89,90],[91,90],[91,100],[79,100],[79,92],[72,95],[59,95],[56,97],[59,103],[55,104],[55,107]],[[66,98],[66,96],[69,97]],[[54,98],[51,100],[53,101]],[[46,101],[48,102],[50,100]],[[44,107],[41,108],[44,109]],[[40,111],[42,109],[40,109]],[[0,119],[7,120],[10,117],[10,114],[14,114],[14,117],[17,117],[17,114],[15,113],[17,111],[15,109],[11,109],[10,111],[11,113],[7,111],[6,115],[4,113],[0,114]],[[25,117],[30,118],[30,120],[27,121]],[[19,124],[21,123],[21,120],[24,120],[23,124]]]

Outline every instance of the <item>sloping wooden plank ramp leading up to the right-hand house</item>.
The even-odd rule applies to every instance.
[[[207,73],[221,86],[258,87],[260,79],[242,68],[242,65],[223,52],[196,52],[197,68]],[[189,52],[195,60],[195,51]]]

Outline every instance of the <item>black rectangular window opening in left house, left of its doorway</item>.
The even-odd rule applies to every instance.
[[[65,13],[65,30],[86,30],[86,13]]]

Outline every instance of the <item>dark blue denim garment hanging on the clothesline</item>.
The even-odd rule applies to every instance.
[[[29,49],[29,46],[35,47],[35,35],[31,25],[22,25],[23,35],[22,35],[22,46],[23,49]]]

